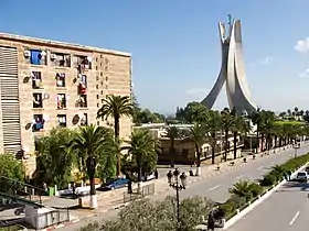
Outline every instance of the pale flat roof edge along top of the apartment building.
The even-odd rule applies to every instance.
[[[22,35],[0,32],[0,40],[1,38],[20,41],[20,42],[41,43],[42,45],[46,45],[46,46],[56,45],[56,46],[63,46],[63,47],[78,48],[78,50],[131,57],[131,54],[126,53],[126,52],[118,52],[118,51],[114,51],[114,50],[106,50],[106,48],[99,48],[99,47],[94,47],[94,46],[85,46],[85,45],[81,45],[81,44],[65,43],[65,42],[52,41],[52,40],[43,40],[43,38],[38,38],[38,37],[29,37],[29,36],[22,36]]]

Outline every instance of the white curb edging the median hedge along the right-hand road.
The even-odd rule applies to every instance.
[[[299,167],[296,172],[291,174],[291,177],[295,177],[299,172],[301,172],[307,165],[306,163],[301,167]],[[248,207],[243,209],[239,213],[235,215],[233,218],[231,218],[228,221],[225,222],[224,228],[221,230],[226,230],[231,228],[234,223],[236,223],[239,219],[242,219],[245,215],[247,215],[249,211],[252,211],[255,207],[257,207],[259,204],[262,204],[264,200],[266,200],[270,195],[273,195],[278,188],[280,188],[284,184],[286,184],[287,180],[284,179],[279,184],[277,184],[275,187],[273,187],[270,190],[268,190],[266,194],[264,194],[259,199],[255,200],[253,204],[251,204]]]

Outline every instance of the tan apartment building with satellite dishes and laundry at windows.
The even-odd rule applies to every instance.
[[[52,128],[106,125],[106,95],[131,96],[131,55],[0,33],[0,153],[34,153]],[[131,120],[121,119],[121,136]]]

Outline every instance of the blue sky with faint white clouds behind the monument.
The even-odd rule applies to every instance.
[[[201,101],[221,67],[217,22],[242,21],[253,101],[309,109],[308,0],[0,0],[0,31],[132,55],[141,107],[173,113]],[[225,89],[214,106],[227,106]]]

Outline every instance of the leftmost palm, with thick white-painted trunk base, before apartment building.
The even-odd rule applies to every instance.
[[[81,127],[70,144],[73,151],[81,154],[81,164],[86,166],[86,172],[90,180],[90,208],[96,209],[97,198],[95,189],[95,173],[99,156],[110,154],[113,138],[109,130],[103,127],[87,125]]]

